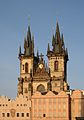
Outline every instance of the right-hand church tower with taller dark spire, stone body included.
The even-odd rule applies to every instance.
[[[67,61],[68,52],[65,49],[63,34],[60,35],[57,22],[55,35],[52,37],[52,50],[48,44],[47,57],[49,60],[50,76],[52,78],[52,91],[68,90]]]

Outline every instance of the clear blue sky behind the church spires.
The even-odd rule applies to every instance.
[[[23,48],[28,24],[35,50],[47,59],[57,20],[69,52],[68,83],[84,89],[84,0],[0,0],[0,95],[17,95],[18,47]]]

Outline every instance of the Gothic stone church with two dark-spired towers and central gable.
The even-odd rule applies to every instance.
[[[43,55],[34,54],[34,37],[28,26],[27,37],[24,39],[24,52],[19,48],[20,77],[18,78],[18,96],[22,94],[31,99],[39,91],[58,93],[68,91],[67,61],[68,52],[65,49],[63,34],[60,35],[57,22],[55,35],[52,37],[52,50],[47,48],[48,66],[45,65]]]

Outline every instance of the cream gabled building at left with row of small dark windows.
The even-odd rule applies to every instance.
[[[0,120],[30,120],[30,107],[31,101],[22,95],[15,100],[0,97]],[[5,117],[2,117],[2,113],[5,114]],[[10,114],[9,117],[7,117],[7,113]],[[17,117],[17,113],[20,114],[20,117]],[[22,113],[24,113],[24,117],[21,117]],[[29,117],[26,116],[27,113],[29,113]]]

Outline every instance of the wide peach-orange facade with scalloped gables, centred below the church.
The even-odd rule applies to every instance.
[[[64,93],[55,95],[52,92],[32,96],[32,120],[36,119],[69,120],[69,96]]]

